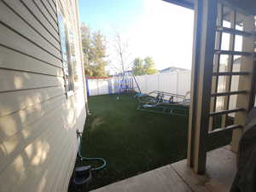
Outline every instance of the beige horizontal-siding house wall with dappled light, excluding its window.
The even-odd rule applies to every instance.
[[[73,29],[67,96],[57,10]],[[0,1],[0,191],[67,191],[86,118],[76,0]]]

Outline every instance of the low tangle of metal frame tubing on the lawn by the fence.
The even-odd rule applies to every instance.
[[[182,96],[158,90],[154,90],[149,94],[136,95],[139,102],[137,110],[188,116],[189,95],[189,91]]]

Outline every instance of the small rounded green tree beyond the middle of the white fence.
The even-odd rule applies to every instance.
[[[133,75],[144,75],[144,74],[154,74],[157,70],[154,68],[154,60],[152,57],[147,56],[143,60],[137,57],[132,64],[132,74]]]

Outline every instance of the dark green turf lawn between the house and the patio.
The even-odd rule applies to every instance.
[[[93,172],[90,189],[186,158],[188,117],[138,111],[133,95],[89,98],[82,154],[108,161],[106,168]],[[208,149],[218,148],[230,143],[230,136],[208,141]]]

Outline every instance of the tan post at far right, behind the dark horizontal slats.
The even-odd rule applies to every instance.
[[[243,31],[255,32],[255,20],[253,15],[243,15]],[[248,72],[248,75],[240,76],[238,90],[247,90],[246,94],[237,96],[236,108],[246,109],[243,113],[236,113],[235,125],[244,125],[246,123],[247,113],[254,106],[255,100],[255,61],[254,61],[254,35],[244,36],[242,38],[242,52],[250,55],[241,55],[241,72]],[[231,149],[238,150],[238,144],[241,138],[242,129],[234,130],[232,135]]]

